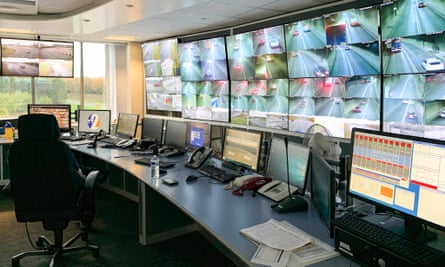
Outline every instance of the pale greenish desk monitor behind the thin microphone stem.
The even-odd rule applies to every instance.
[[[286,164],[285,139],[280,136],[272,137],[267,176],[287,183],[287,171],[289,170],[290,184],[297,187],[297,194],[304,195],[310,150],[307,146],[293,141],[288,141],[287,147],[289,166]]]

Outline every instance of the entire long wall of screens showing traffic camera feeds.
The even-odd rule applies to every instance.
[[[321,123],[342,138],[355,126],[444,138],[445,6],[356,5],[143,43],[147,112],[290,132]]]

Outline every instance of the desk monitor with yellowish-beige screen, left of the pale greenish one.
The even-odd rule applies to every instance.
[[[227,128],[224,134],[222,159],[243,168],[258,170],[261,133]]]

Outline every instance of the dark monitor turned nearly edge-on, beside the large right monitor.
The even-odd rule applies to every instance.
[[[321,221],[333,237],[332,220],[335,218],[335,170],[319,154],[311,153],[311,199]]]

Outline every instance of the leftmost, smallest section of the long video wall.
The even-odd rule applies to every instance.
[[[142,44],[147,110],[181,111],[177,39]]]

